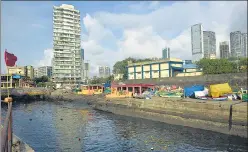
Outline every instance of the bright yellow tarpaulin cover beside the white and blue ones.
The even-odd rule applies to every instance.
[[[232,88],[228,83],[223,84],[213,84],[209,87],[209,93],[213,98],[218,98],[223,96],[224,94],[232,93]]]

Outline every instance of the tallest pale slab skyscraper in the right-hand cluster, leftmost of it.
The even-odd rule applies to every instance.
[[[192,61],[199,61],[204,57],[203,31],[201,24],[191,26]]]

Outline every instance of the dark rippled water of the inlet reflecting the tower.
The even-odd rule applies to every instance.
[[[36,152],[241,152],[248,148],[245,138],[95,111],[80,102],[14,104],[13,116],[14,133]]]

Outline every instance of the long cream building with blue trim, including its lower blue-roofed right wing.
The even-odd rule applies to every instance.
[[[202,75],[197,65],[176,58],[128,63],[128,80]]]

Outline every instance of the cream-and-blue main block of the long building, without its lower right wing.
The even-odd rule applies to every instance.
[[[128,63],[128,79],[150,79],[174,77],[183,72],[183,61],[167,58],[156,61]]]

